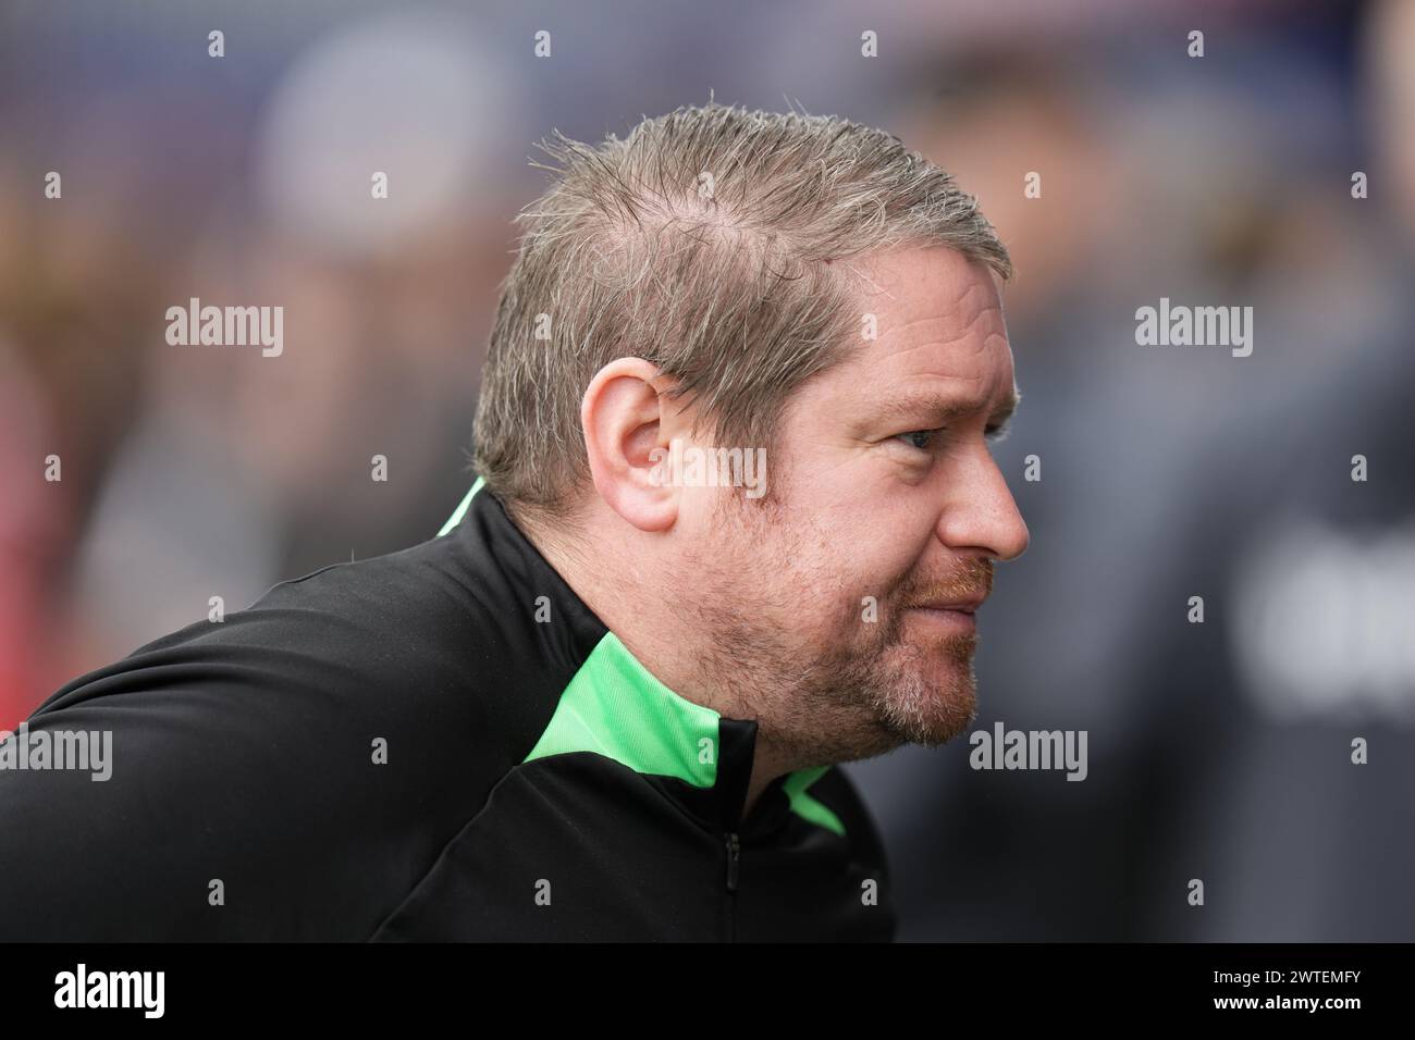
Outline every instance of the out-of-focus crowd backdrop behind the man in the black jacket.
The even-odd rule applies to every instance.
[[[1088,777],[846,765],[900,938],[1415,938],[1405,0],[4,4],[0,729],[212,594],[436,533],[533,141],[709,92],[899,134],[1019,270],[1032,548],[976,727],[1087,730]],[[168,345],[190,297],[283,306],[283,354]],[[1252,306],[1252,355],[1138,347],[1160,297]]]

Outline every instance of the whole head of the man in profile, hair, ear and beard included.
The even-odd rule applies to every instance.
[[[889,134],[794,113],[548,150],[483,382],[487,488],[784,768],[961,733],[966,611],[1027,542],[986,446],[1015,403],[1010,262],[974,200]],[[767,494],[665,480],[675,441],[764,451]]]

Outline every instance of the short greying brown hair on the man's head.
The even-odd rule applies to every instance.
[[[591,147],[538,146],[553,184],[501,287],[473,466],[514,516],[569,521],[589,475],[580,403],[620,357],[669,376],[717,444],[771,446],[807,379],[860,340],[857,280],[832,260],[948,246],[1012,277],[954,178],[890,133],[720,103]]]

